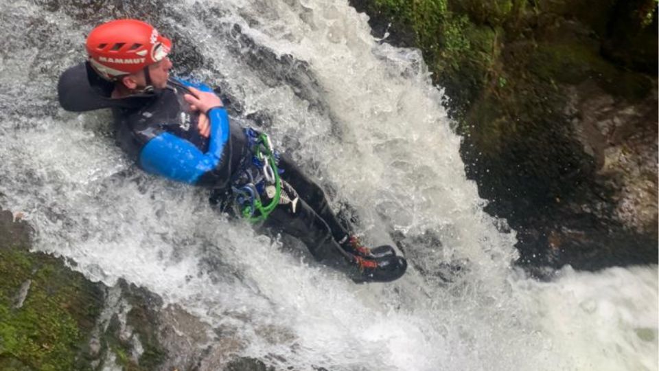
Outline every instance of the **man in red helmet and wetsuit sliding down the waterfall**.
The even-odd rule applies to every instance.
[[[62,74],[67,111],[112,109],[119,146],[155,175],[222,194],[237,214],[305,243],[311,254],[355,282],[389,282],[407,262],[390,246],[362,246],[330,210],[321,188],[264,133],[229,120],[204,84],[170,77],[172,42],[148,23],[96,27],[89,59]]]

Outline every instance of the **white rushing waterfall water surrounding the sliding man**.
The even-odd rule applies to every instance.
[[[406,276],[352,284],[205,191],[144,175],[107,112],[60,109],[59,74],[117,14],[172,36],[178,72],[222,87],[232,119],[264,127],[364,240],[399,240]],[[3,1],[0,205],[25,214],[34,249],[144,286],[277,368],[657,370],[656,265],[552,282],[515,269],[515,233],[465,179],[421,54],[369,31],[346,1]]]

